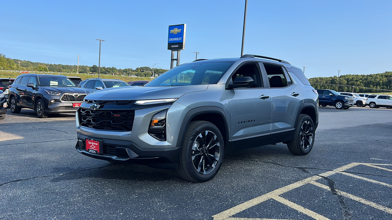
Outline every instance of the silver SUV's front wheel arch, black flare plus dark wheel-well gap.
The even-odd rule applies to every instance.
[[[185,132],[189,126],[189,123],[191,123],[192,121],[199,120],[211,122],[216,127],[218,127],[222,134],[223,141],[225,141],[225,149],[228,149],[227,147],[229,147],[229,127],[227,119],[225,117],[225,112],[223,111],[223,109],[216,106],[202,106],[189,110],[181,124],[180,133],[177,140],[177,147],[182,146]]]

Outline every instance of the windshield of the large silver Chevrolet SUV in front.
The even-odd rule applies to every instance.
[[[234,61],[187,63],[153,79],[145,87],[216,84]]]

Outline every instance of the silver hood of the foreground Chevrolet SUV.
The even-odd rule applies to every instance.
[[[181,87],[118,87],[98,90],[85,99],[90,100],[148,100],[179,98],[189,92],[207,90],[208,85],[190,85]]]

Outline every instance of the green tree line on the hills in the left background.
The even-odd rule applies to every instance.
[[[20,63],[19,63],[20,62]],[[20,66],[19,66],[20,64]],[[62,65],[62,64],[50,64],[50,63],[39,63],[31,62],[28,60],[17,60],[6,58],[4,54],[0,54],[0,68],[2,70],[23,70],[23,71],[40,71],[40,72],[69,72],[69,73],[79,73],[90,74],[98,73],[98,66],[93,65],[92,67],[79,65],[79,70],[77,65]],[[140,76],[140,77],[150,77],[152,72],[154,74],[162,74],[166,72],[165,69],[152,70],[151,67],[138,67],[136,69],[117,69],[116,67],[101,67],[101,74],[108,75],[129,75],[129,76]]]

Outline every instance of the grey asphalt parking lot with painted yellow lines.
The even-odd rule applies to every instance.
[[[309,155],[225,156],[204,183],[78,153],[73,114],[0,120],[0,219],[392,219],[392,109],[320,107]]]

